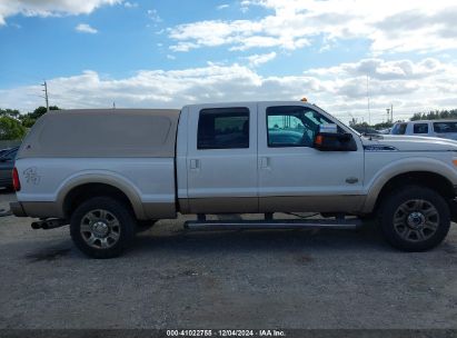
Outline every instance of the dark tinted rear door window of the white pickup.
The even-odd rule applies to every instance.
[[[217,108],[200,110],[197,148],[249,148],[249,109]]]

